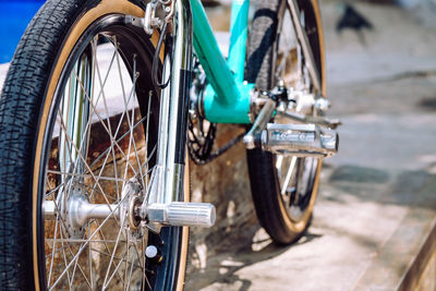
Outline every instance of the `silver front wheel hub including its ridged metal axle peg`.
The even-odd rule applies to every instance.
[[[65,190],[70,193],[66,202]],[[209,203],[144,201],[143,187],[136,179],[125,183],[121,201],[117,204],[90,203],[85,186],[77,181],[59,191],[58,197],[57,202],[43,203],[44,215],[46,219],[50,219],[60,213],[66,229],[65,237],[74,239],[83,239],[84,227],[93,221],[90,219],[116,219],[117,226],[136,240],[144,237],[146,229],[159,232],[164,226],[211,227],[216,219],[215,207]],[[60,211],[57,211],[58,207]]]

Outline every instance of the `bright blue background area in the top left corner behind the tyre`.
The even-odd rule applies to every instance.
[[[44,0],[0,0],[0,63],[10,62],[28,23]]]

